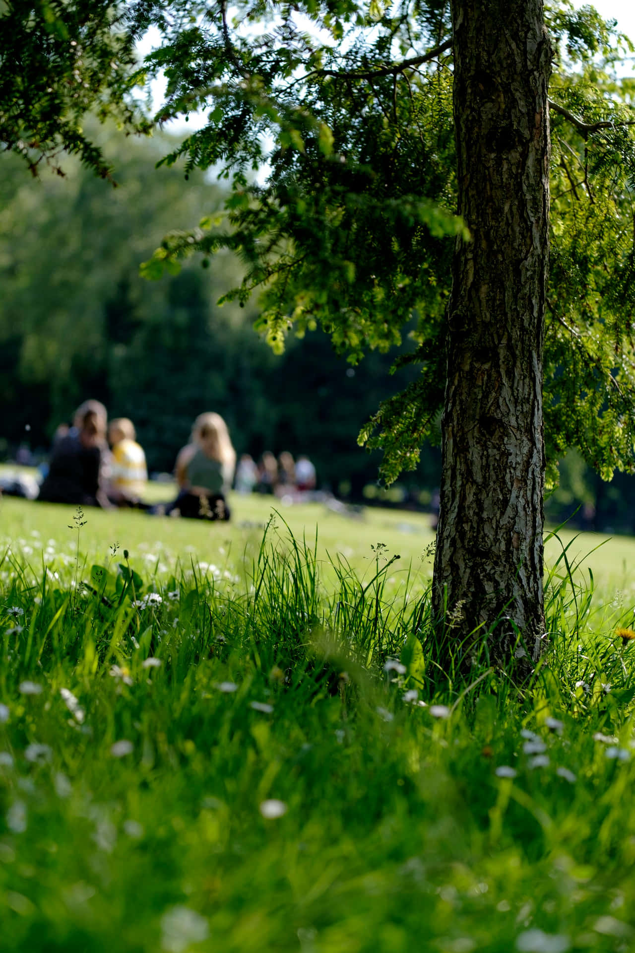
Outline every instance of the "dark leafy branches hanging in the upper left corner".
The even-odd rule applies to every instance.
[[[84,121],[95,112],[149,132],[131,95],[141,78],[123,3],[12,0],[0,8],[0,143],[33,175],[42,165],[64,174],[66,152],[108,178],[109,162]]]

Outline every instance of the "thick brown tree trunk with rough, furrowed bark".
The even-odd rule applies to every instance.
[[[462,667],[484,640],[493,661],[523,656],[514,625],[526,667],[545,632],[551,47],[541,0],[451,7],[459,213],[471,241],[457,241],[453,261],[433,611]]]

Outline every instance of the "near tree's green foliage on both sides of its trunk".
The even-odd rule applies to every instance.
[[[188,3],[180,10],[190,10]],[[194,8],[191,8],[192,15]],[[416,465],[443,404],[455,217],[451,28],[446,5],[238,4],[187,32],[144,5],[169,71],[162,117],[210,109],[166,157],[229,178],[225,227],[169,234],[147,274],[231,248],[246,275],[226,299],[264,289],[260,330],[276,351],[291,327],[321,324],[356,364],[399,344],[414,315],[422,374],[385,402],[360,440],[385,452],[388,482]],[[301,14],[301,16],[300,16]],[[629,41],[591,7],[550,4],[555,49],[551,276],[546,327],[547,482],[578,447],[608,478],[635,465],[632,211],[633,84],[614,68]],[[248,23],[248,29],[244,29]],[[310,24],[310,29],[308,29]],[[193,63],[196,69],[193,71]],[[325,130],[327,148],[324,148]],[[270,148],[266,149],[266,144]],[[252,172],[267,163],[266,172]],[[209,228],[209,231],[208,231]]]

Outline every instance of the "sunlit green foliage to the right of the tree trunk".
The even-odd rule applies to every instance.
[[[582,89],[581,89],[582,87]],[[597,93],[584,84],[560,91],[585,121],[601,121]],[[593,99],[596,102],[593,102]],[[580,110],[580,112],[582,112]],[[631,319],[633,283],[630,189],[635,159],[628,113],[592,139],[553,122],[552,282],[546,345],[546,429],[553,460],[577,446],[605,479],[633,471],[629,420],[635,411]],[[574,131],[575,132],[575,131]],[[610,267],[607,263],[610,262]]]

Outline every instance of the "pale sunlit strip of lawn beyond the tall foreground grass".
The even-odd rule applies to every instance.
[[[25,473],[35,475],[35,470],[14,464],[0,464],[0,475]],[[176,490],[170,483],[149,482],[147,500],[152,503],[168,502]],[[248,538],[259,541],[262,528],[272,509],[279,510],[296,537],[314,537],[319,526],[318,551],[322,557],[339,552],[347,558],[361,562],[372,558],[371,544],[384,542],[390,554],[400,554],[400,566],[412,561],[417,572],[429,578],[431,560],[421,561],[422,554],[432,542],[430,517],[427,514],[410,513],[404,510],[389,510],[367,507],[360,518],[344,517],[329,510],[322,503],[309,503],[292,507],[285,506],[274,497],[231,495],[233,519],[231,527],[207,525],[181,520],[159,520],[160,531],[155,521],[141,513],[109,512],[92,510],[89,523],[83,533],[83,551],[91,555],[104,555],[111,542],[119,540],[132,552],[137,546],[154,545],[159,540],[174,557],[183,556],[189,547],[199,555],[213,554],[223,540],[230,538],[234,547],[243,547]],[[64,515],[62,515],[64,514]],[[30,504],[22,500],[0,498],[0,534],[6,537],[29,535],[39,529],[42,537],[63,540],[69,523],[66,508],[38,506],[35,513]],[[635,540],[631,537],[608,537],[596,533],[575,534],[566,529],[559,533],[572,562],[582,561],[583,575],[588,578],[591,569],[595,581],[610,593],[611,599],[635,602]],[[219,542],[219,540],[221,540]],[[610,545],[607,543],[610,542]],[[553,563],[562,552],[561,542],[547,541],[546,562]],[[589,555],[590,554],[590,555]]]

